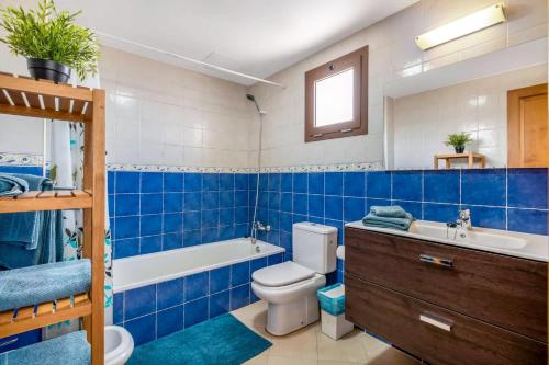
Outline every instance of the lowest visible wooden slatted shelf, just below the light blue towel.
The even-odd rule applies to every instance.
[[[2,311],[0,312],[0,339],[90,313],[91,301],[87,293]]]

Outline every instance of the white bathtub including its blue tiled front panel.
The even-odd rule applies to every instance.
[[[284,260],[284,249],[233,239],[113,260],[113,323],[135,345],[258,300],[251,273]]]

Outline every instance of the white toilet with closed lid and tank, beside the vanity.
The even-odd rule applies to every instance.
[[[318,320],[316,290],[324,274],[336,270],[337,228],[313,223],[293,225],[293,261],[253,273],[251,289],[269,304],[267,331],[283,335]]]

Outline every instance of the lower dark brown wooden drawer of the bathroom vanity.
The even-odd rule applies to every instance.
[[[547,364],[547,344],[406,295],[346,278],[346,317],[430,364]]]

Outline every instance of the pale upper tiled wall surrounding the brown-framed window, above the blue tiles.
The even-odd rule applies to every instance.
[[[270,113],[264,134],[264,166],[383,161],[383,85],[547,35],[546,0],[506,0],[509,21],[422,52],[414,37],[494,0],[423,0],[289,67],[270,79],[287,85],[256,84],[251,92]],[[304,73],[330,59],[369,45],[369,134],[304,142]],[[255,159],[255,152],[250,153]]]

